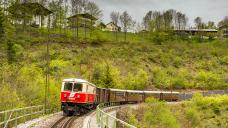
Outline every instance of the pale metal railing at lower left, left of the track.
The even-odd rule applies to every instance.
[[[38,105],[2,111],[0,112],[0,128],[17,127],[19,123],[43,115],[44,110],[44,105]]]

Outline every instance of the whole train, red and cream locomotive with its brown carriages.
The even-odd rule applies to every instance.
[[[178,95],[179,92],[99,88],[86,80],[71,78],[63,80],[60,97],[64,115],[79,115],[100,103],[137,103],[144,102],[148,97],[177,101]]]

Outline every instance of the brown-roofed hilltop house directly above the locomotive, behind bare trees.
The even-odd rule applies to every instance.
[[[76,14],[73,15],[68,19],[68,27],[69,28],[80,28],[80,27],[85,27],[88,29],[91,29],[91,27],[94,27],[97,18],[88,14],[88,13],[84,13],[84,14]]]

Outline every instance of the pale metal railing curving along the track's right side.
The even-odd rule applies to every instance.
[[[136,128],[135,126],[124,122],[116,116],[113,116],[108,113],[111,109],[115,109],[120,103],[103,103],[97,106],[96,109],[96,118],[97,124],[100,128]]]

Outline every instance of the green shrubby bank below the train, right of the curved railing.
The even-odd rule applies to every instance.
[[[166,104],[147,99],[136,109],[123,109],[118,117],[138,128],[226,128],[228,96],[194,95],[191,101]]]

